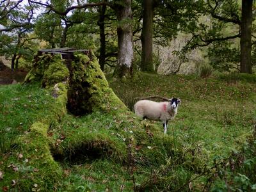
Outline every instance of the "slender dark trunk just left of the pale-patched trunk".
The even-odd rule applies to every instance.
[[[105,36],[105,13],[106,13],[106,4],[102,5],[102,8],[99,10],[99,20],[97,22],[100,28],[100,56],[99,56],[99,64],[100,69],[104,71],[105,58],[106,58],[106,36]]]

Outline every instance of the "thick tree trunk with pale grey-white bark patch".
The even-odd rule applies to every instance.
[[[122,1],[122,5],[116,6],[116,17],[119,22],[118,36],[118,60],[115,76],[124,77],[132,73],[132,24],[131,24],[131,0]]]

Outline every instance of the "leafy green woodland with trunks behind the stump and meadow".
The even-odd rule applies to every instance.
[[[31,39],[41,42],[37,49],[93,49],[102,70],[123,77],[134,69],[155,71],[161,60],[156,47],[172,46],[184,35],[173,52],[179,65],[188,60],[188,52],[201,49],[216,70],[252,73],[255,4],[242,2],[1,1],[0,54],[14,68],[19,58],[31,61],[28,55],[36,52],[33,45],[29,49]]]

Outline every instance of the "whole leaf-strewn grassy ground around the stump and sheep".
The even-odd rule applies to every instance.
[[[0,86],[0,190],[202,191],[204,168],[217,156],[239,151],[252,132],[255,79],[156,74],[109,79],[129,108],[134,97],[179,97],[182,104],[167,136],[161,123],[143,120],[141,129],[130,113],[60,118],[51,112],[56,100],[38,84]],[[49,126],[40,137],[31,125],[42,119]],[[49,154],[41,150],[50,150],[54,159],[45,161]]]

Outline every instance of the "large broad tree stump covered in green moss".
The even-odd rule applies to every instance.
[[[24,83],[30,81],[41,81],[42,87],[52,88],[53,95],[54,90],[60,90],[61,86],[63,88],[64,83],[67,88],[67,109],[74,115],[96,110],[110,112],[116,108],[127,110],[109,88],[92,51],[76,52],[67,48],[39,51]]]

